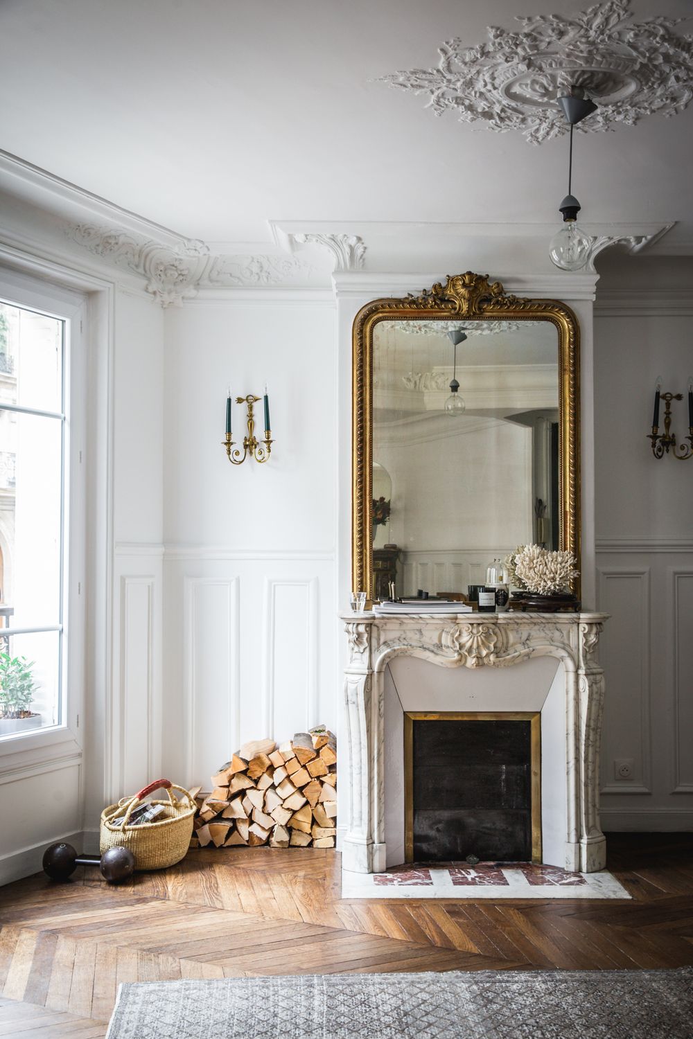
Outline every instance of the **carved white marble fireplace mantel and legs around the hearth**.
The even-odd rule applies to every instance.
[[[598,745],[604,672],[596,647],[604,613],[374,613],[342,615],[349,646],[345,707],[349,742],[349,824],[343,865],[357,873],[385,868],[383,678],[397,656],[443,667],[510,667],[555,657],[565,684],[566,870],[604,869],[606,845],[598,817]]]

